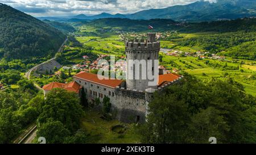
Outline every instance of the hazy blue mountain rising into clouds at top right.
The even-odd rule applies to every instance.
[[[164,18],[176,21],[211,21],[256,16],[255,0],[197,1],[189,5],[177,5],[165,9],[150,9],[128,16],[130,19]]]

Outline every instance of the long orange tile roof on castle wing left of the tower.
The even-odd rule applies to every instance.
[[[80,72],[74,76],[75,78],[84,79],[85,81],[97,83],[108,87],[115,88],[123,82],[119,79],[99,79],[97,74]]]

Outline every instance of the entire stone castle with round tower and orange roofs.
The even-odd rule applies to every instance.
[[[156,33],[148,33],[147,40],[134,40],[125,43],[126,64],[127,71],[126,77],[129,76],[128,70],[139,72],[139,78],[129,79],[122,81],[119,79],[98,79],[97,74],[80,72],[73,76],[71,83],[57,83],[52,82],[43,87],[44,94],[53,88],[61,87],[68,91],[75,91],[79,93],[81,87],[84,87],[87,99],[90,103],[94,103],[96,98],[101,102],[104,97],[110,98],[112,103],[112,113],[116,118],[125,123],[144,123],[146,121],[148,103],[152,100],[155,91],[161,91],[164,87],[170,86],[179,81],[182,76],[170,73],[163,74],[159,70],[159,76],[156,76],[157,85],[149,86],[149,79],[142,77],[140,67],[136,68],[136,64],[129,64],[129,60],[158,60],[160,51],[160,42],[155,40]],[[154,62],[153,65],[154,66]],[[147,66],[146,73],[154,68]],[[154,73],[154,72],[153,72]]]

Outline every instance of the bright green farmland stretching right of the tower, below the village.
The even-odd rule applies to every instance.
[[[163,54],[162,54],[163,55]],[[248,63],[248,64],[241,64]],[[197,57],[174,57],[163,55],[163,62],[167,69],[178,69],[200,79],[208,78],[233,78],[241,83],[247,93],[256,96],[256,65],[253,61],[236,60],[227,62],[224,60],[201,60]]]

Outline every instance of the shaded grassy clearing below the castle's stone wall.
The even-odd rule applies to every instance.
[[[124,124],[117,120],[104,120],[101,119],[101,114],[96,111],[86,111],[85,118],[82,119],[82,128],[89,133],[88,143],[100,144],[127,144],[139,143],[139,137],[135,131],[135,124]],[[111,127],[114,125],[124,125],[127,129],[124,133],[114,133]]]

